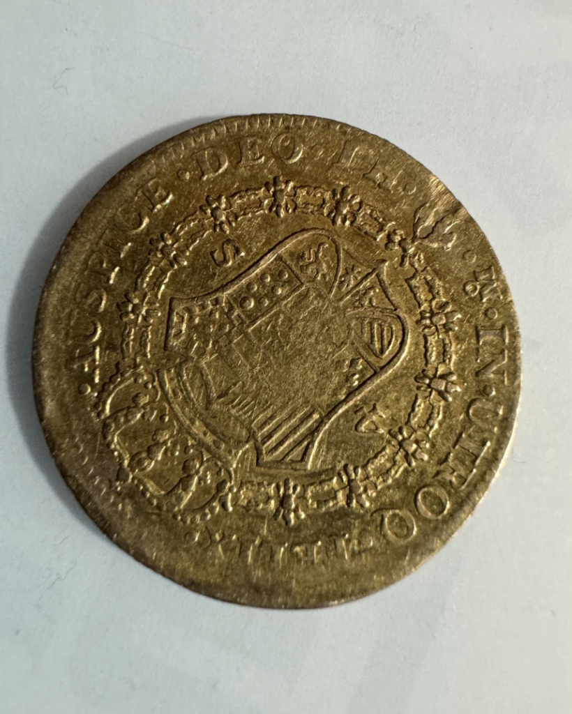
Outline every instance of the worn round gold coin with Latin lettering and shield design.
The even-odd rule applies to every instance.
[[[177,583],[341,603],[451,537],[506,451],[518,324],[461,203],[388,141],[235,117],[81,213],[44,288],[36,401],[100,528]]]

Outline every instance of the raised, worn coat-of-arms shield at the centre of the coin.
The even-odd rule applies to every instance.
[[[407,328],[384,278],[323,230],[288,236],[212,293],[171,298],[161,384],[179,420],[232,468],[311,468],[328,424],[393,368]]]

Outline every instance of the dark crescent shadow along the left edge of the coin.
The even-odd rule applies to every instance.
[[[31,371],[31,349],[34,337],[34,321],[44,281],[54,262],[61,243],[73,226],[81,210],[91,198],[126,164],[136,159],[145,151],[152,149],[161,141],[180,134],[200,124],[220,119],[220,116],[201,116],[178,124],[171,124],[162,129],[141,136],[136,141],[124,146],[111,156],[106,157],[86,176],[81,178],[74,188],[58,203],[54,211],[41,227],[26,256],[9,308],[8,340],[6,363],[8,370],[8,394],[19,428],[26,441],[29,453],[39,471],[44,475],[49,486],[61,503],[92,531],[104,534],[95,526],[83,508],[76,501],[74,493],[61,477],[44,438],[44,433],[36,413],[34,386]]]

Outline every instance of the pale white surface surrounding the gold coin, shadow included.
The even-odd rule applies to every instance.
[[[570,0],[0,2],[3,714],[569,714]],[[275,612],[180,588],[74,501],[30,377],[41,285],[124,164],[204,121],[346,121],[476,218],[513,291],[523,396],[475,516],[388,590]]]

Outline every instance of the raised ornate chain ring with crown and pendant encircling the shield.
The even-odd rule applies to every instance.
[[[428,460],[443,409],[459,391],[452,360],[453,334],[461,315],[443,292],[423,253],[425,246],[451,248],[456,238],[451,229],[459,220],[459,209],[459,204],[454,204],[440,213],[434,204],[423,204],[415,212],[413,231],[407,236],[349,186],[296,186],[293,181],[274,176],[260,188],[247,188],[231,196],[206,196],[204,203],[171,232],[151,238],[148,259],[134,288],[117,305],[124,323],[122,359],[95,401],[104,440],[119,464],[111,490],[118,498],[139,491],[154,513],[186,525],[208,521],[234,508],[262,516],[271,514],[286,526],[312,513],[373,508],[376,494],[396,481],[405,468],[415,469]],[[386,249],[396,251],[401,268],[408,268],[408,272],[413,269],[406,284],[419,308],[416,323],[423,333],[425,366],[415,378],[416,396],[406,422],[387,429],[385,415],[376,404],[358,408],[356,431],[384,434],[383,448],[366,463],[340,464],[327,478],[322,473],[313,481],[311,474],[279,481],[239,480],[232,469],[223,466],[178,423],[149,364],[151,329],[171,274],[189,265],[192,249],[207,234],[231,234],[241,221],[261,213],[279,219],[306,213],[325,216],[342,230],[353,226]],[[351,284],[358,278],[349,270],[341,279]],[[349,365],[348,374],[351,368]],[[116,394],[126,388],[131,390],[131,403],[115,408]],[[154,429],[146,448],[131,453],[121,431],[137,422],[159,423],[159,428]],[[179,481],[166,493],[159,491],[146,478],[146,472],[161,459],[180,454],[184,454],[184,460],[181,458]],[[191,506],[199,488],[209,496],[199,506]]]

